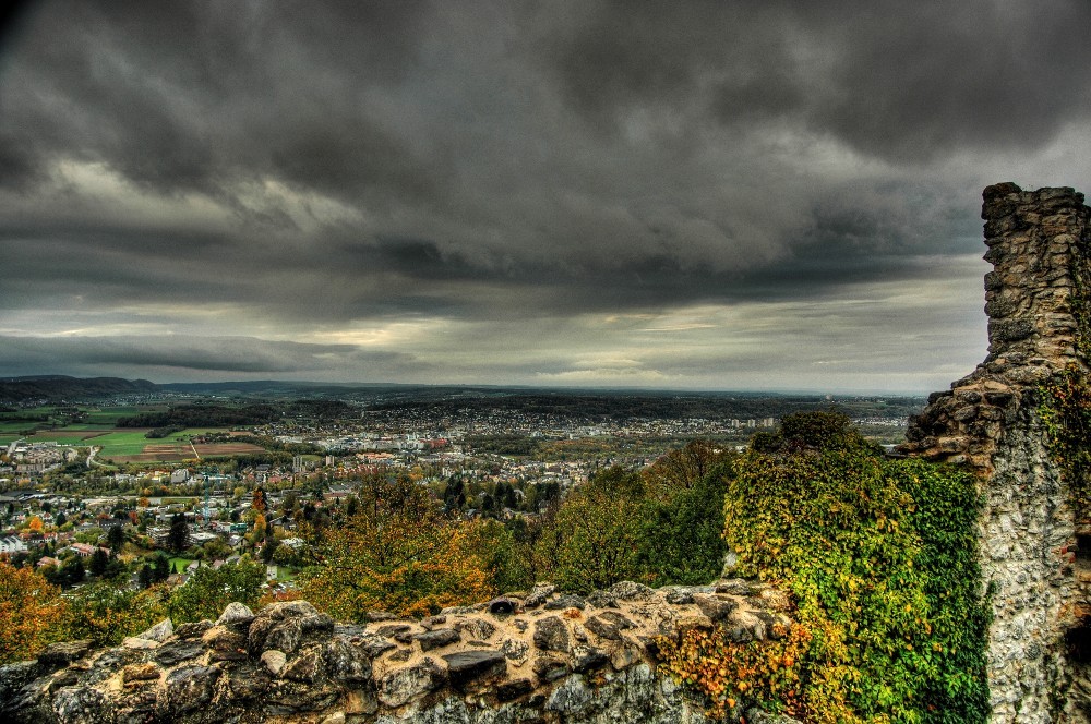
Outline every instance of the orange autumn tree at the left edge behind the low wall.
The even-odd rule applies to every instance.
[[[32,568],[0,559],[0,664],[33,659],[63,639],[67,613],[58,587]]]

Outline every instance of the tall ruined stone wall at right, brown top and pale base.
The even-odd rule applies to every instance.
[[[1071,189],[985,189],[988,355],[928,399],[902,450],[963,462],[986,503],[980,558],[991,593],[993,721],[1088,721],[1079,660],[1066,642],[1087,593],[1075,565],[1076,516],[1039,418],[1043,383],[1087,367],[1079,321],[1089,277],[1089,214]]]

